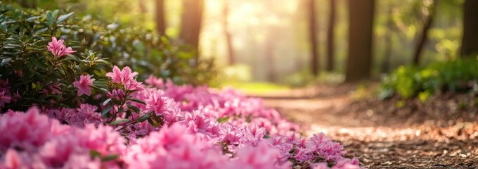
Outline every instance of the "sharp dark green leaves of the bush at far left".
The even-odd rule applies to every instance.
[[[32,105],[76,106],[84,98],[77,96],[72,82],[79,75],[105,73],[104,69],[110,69],[111,63],[82,49],[79,42],[66,42],[77,51],[67,56],[56,57],[46,50],[51,37],[63,37],[65,32],[77,29],[77,25],[72,25],[72,13],[45,12],[2,3],[0,11],[0,80],[16,100],[4,109],[22,110]],[[93,86],[97,89],[105,84],[105,80],[96,77]]]

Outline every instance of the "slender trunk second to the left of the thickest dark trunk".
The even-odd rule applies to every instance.
[[[311,42],[311,70],[312,74],[318,75],[318,41],[316,30],[316,3],[315,0],[309,0],[309,32]]]

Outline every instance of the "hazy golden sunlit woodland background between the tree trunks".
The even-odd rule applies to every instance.
[[[200,58],[215,58],[223,82],[278,82],[292,86],[317,78],[341,82],[347,63],[349,14],[347,1],[335,2],[335,68],[325,71],[330,1],[315,1],[319,77],[311,75],[310,70],[308,1],[204,0],[198,46]],[[41,1],[39,5],[43,8],[72,5],[72,11],[80,15],[95,15],[154,31],[155,3],[155,0],[56,0]],[[446,61],[459,54],[463,1],[439,3],[439,12],[434,15],[423,48],[422,63]],[[432,0],[375,1],[373,77],[411,63],[432,4]],[[183,1],[164,0],[165,34],[173,39],[181,32],[183,11]],[[385,64],[387,70],[383,68]]]

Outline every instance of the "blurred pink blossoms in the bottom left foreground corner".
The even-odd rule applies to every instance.
[[[123,154],[127,148],[112,127],[61,125],[37,108],[1,115],[0,132],[0,168],[118,167],[101,163],[101,157]],[[98,157],[91,156],[93,151]]]

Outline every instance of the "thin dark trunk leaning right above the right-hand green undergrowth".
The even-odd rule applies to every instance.
[[[422,56],[423,47],[428,39],[428,30],[432,27],[432,23],[434,20],[434,15],[437,13],[437,4],[438,1],[433,1],[432,8],[429,8],[428,18],[425,21],[425,25],[423,26],[422,34],[418,37],[418,44],[415,47],[415,53],[413,54],[413,64],[418,65],[420,63],[420,56]]]

